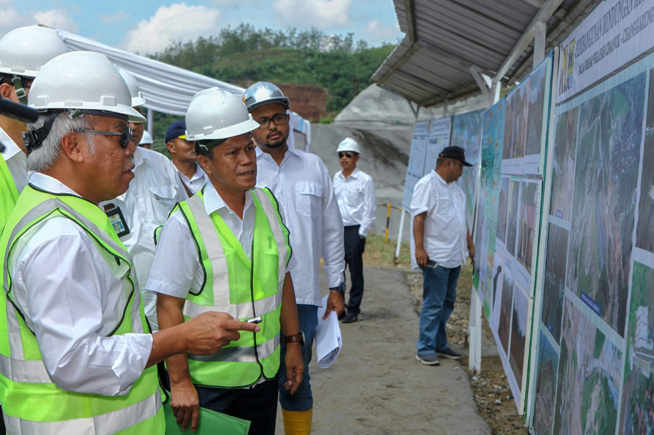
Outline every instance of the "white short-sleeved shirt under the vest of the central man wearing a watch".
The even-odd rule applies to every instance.
[[[217,213],[222,217],[250,258],[254,217],[256,216],[256,208],[252,205],[250,191],[245,192],[243,220],[229,208],[213,184],[207,183],[203,193],[207,216]],[[279,214],[283,219],[281,206]],[[291,255],[287,272],[294,266],[294,259],[295,253]],[[196,248],[188,223],[182,213],[176,210],[163,225],[157,253],[154,256],[154,263],[152,263],[150,279],[145,288],[164,295],[186,298],[190,290],[197,292],[201,289],[204,278],[204,271],[198,259],[198,248]]]

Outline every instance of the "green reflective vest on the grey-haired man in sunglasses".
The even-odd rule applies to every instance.
[[[108,335],[147,330],[131,256],[120,243],[105,213],[73,195],[54,195],[28,185],[18,197],[0,237],[3,289],[0,298],[0,402],[9,434],[163,434],[165,423],[156,366],[147,368],[125,396],[71,393],[60,389],[46,371],[39,344],[12,300],[9,259],[16,242],[44,219],[71,219],[115,261],[107,264],[129,285],[123,317]],[[52,265],[57,259],[52,259]],[[128,289],[128,290],[124,290]],[[129,293],[129,294],[127,294]],[[137,305],[134,305],[136,303]],[[139,317],[138,324],[132,324]]]

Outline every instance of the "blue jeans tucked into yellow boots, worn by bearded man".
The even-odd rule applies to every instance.
[[[300,330],[304,332],[304,346],[302,346],[302,360],[304,361],[304,376],[302,383],[296,392],[291,395],[284,388],[286,382],[286,344],[281,343],[281,362],[279,363],[279,404],[286,411],[308,411],[313,408],[313,394],[311,393],[311,376],[309,376],[309,362],[311,362],[311,351],[313,350],[313,336],[318,326],[318,307],[315,305],[298,304],[298,320]]]

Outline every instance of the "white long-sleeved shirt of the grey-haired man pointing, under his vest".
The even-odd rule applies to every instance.
[[[52,193],[77,195],[35,172],[29,182]],[[150,334],[107,336],[124,310],[124,287],[114,257],[66,217],[44,219],[16,242],[9,258],[14,301],[33,330],[55,383],[77,393],[125,395],[141,376],[152,349]],[[126,272],[126,271],[125,271]],[[139,287],[131,323],[142,332]]]

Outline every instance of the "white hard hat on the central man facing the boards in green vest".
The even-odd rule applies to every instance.
[[[243,101],[216,87],[196,93],[186,110],[186,140],[226,139],[258,127]]]

